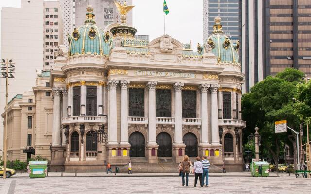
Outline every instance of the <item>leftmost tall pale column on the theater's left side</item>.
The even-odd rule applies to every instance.
[[[54,107],[53,107],[53,132],[52,132],[52,146],[60,146],[60,93],[59,87],[53,88],[54,93]]]

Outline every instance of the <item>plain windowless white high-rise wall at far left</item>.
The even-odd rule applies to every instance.
[[[31,91],[36,69],[44,66],[43,0],[21,0],[20,8],[1,10],[1,58],[15,63],[15,78],[9,79],[9,96]],[[0,79],[0,110],[5,106],[5,80]],[[3,118],[0,118],[0,149],[3,148]],[[2,154],[2,152],[1,152]]]

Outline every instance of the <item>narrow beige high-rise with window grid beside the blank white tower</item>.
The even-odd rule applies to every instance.
[[[65,38],[66,39],[66,38]],[[59,1],[44,1],[44,69],[54,65],[54,52],[63,44],[62,8]]]

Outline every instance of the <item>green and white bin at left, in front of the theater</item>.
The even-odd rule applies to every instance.
[[[29,177],[45,178],[48,161],[29,161]]]

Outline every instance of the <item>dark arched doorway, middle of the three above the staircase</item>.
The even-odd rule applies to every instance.
[[[172,157],[172,139],[168,133],[159,133],[156,136],[156,143],[159,145],[157,148],[157,156]]]

